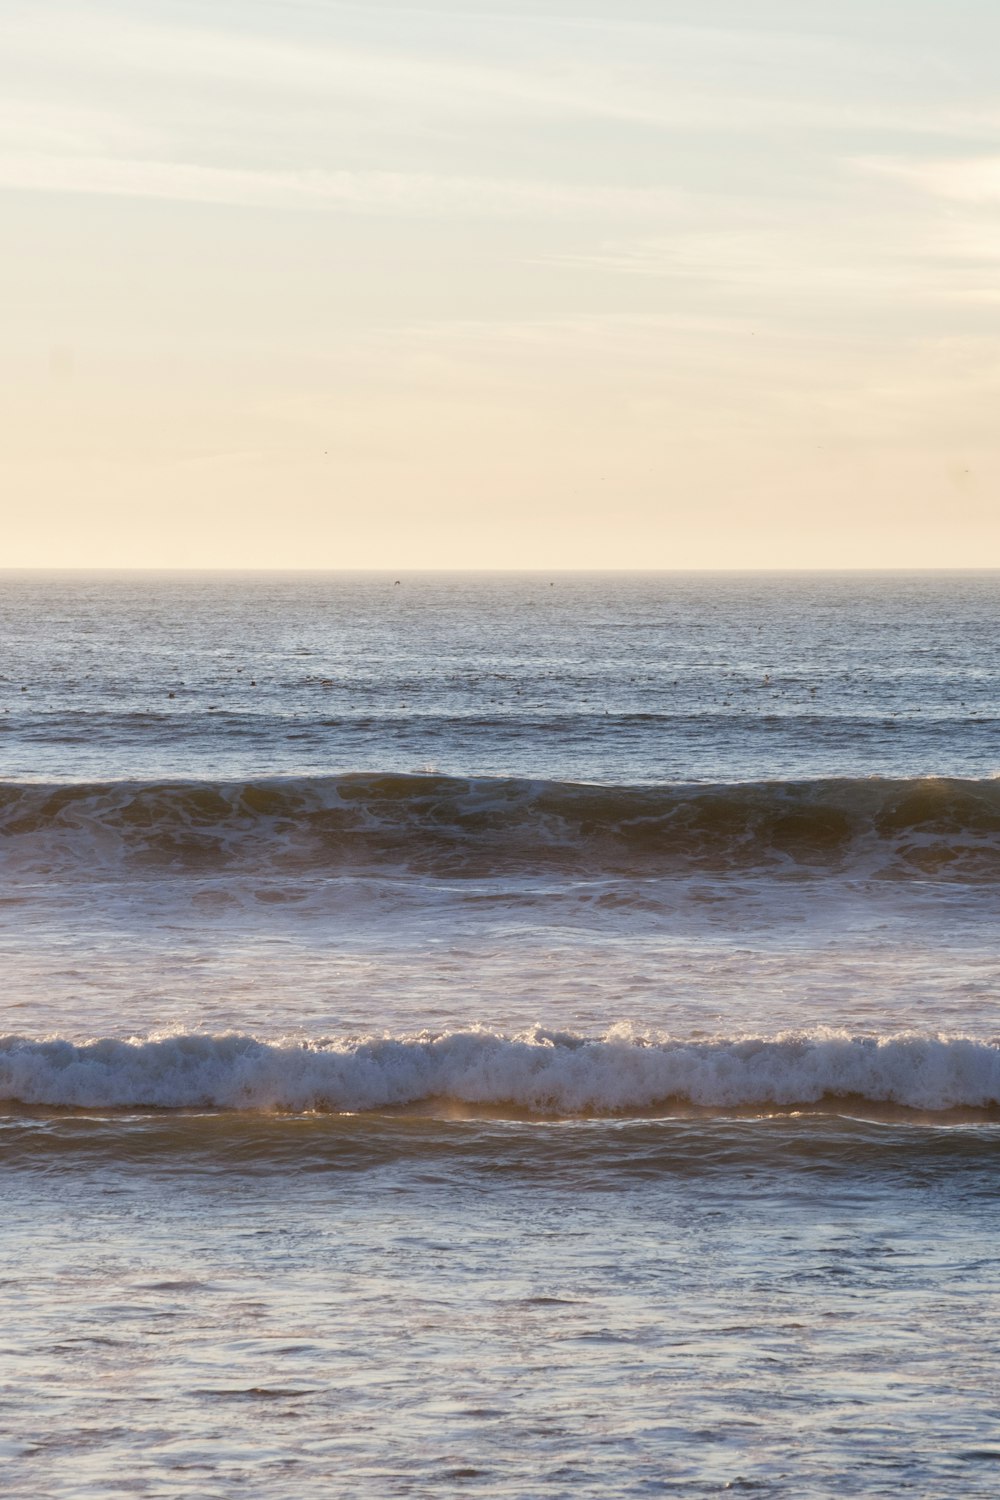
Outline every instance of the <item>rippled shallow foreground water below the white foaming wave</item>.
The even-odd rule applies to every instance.
[[[9,1492],[996,1490],[982,1132],[45,1130],[6,1196]]]

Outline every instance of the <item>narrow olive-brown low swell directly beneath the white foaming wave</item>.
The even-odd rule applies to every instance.
[[[882,1198],[909,1184],[925,1194],[960,1186],[979,1198],[996,1197],[1000,1125],[957,1122],[948,1116],[871,1119],[861,1112],[835,1114],[673,1113],[639,1119],[511,1120],[442,1114],[235,1114],[204,1112],[75,1114],[21,1112],[0,1119],[0,1149],[7,1166],[46,1176],[81,1168],[135,1168],[142,1178],[165,1173],[247,1176],[291,1174],[297,1190],[321,1173],[400,1172],[414,1184],[475,1191],[498,1180],[532,1191],[570,1188],[613,1192],[631,1180],[661,1182],[721,1178],[726,1194],[762,1188],[786,1196],[795,1176],[816,1190],[817,1174],[840,1179],[852,1196]],[[802,1186],[807,1186],[802,1184]],[[625,1215],[627,1221],[627,1215]]]

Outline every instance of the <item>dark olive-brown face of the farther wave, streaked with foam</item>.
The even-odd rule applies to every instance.
[[[597,786],[352,774],[0,784],[0,854],[34,873],[394,866],[487,876],[1000,876],[1000,780]]]

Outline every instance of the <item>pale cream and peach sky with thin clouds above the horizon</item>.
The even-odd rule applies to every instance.
[[[1000,567],[996,0],[4,0],[0,566]]]

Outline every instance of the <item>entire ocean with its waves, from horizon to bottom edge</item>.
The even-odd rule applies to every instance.
[[[0,574],[4,1496],[997,1496],[999,622]]]

